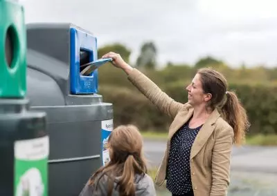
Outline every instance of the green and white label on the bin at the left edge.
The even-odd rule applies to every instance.
[[[15,141],[15,196],[48,196],[48,136]]]

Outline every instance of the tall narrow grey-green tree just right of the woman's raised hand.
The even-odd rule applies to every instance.
[[[156,67],[157,48],[153,42],[143,43],[141,54],[136,59],[137,67],[154,69]]]

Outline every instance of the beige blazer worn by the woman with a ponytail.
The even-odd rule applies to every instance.
[[[161,186],[166,179],[170,140],[193,115],[193,107],[168,97],[135,68],[129,73],[128,79],[159,110],[174,119],[169,128],[166,152],[155,179],[156,184]],[[214,110],[199,130],[190,151],[190,176],[195,196],[227,195],[232,144],[233,128]]]

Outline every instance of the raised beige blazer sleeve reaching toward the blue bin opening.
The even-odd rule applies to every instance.
[[[161,112],[166,113],[166,115],[172,118],[175,118],[177,112],[184,106],[184,104],[166,95],[166,93],[154,84],[153,81],[136,68],[133,68],[132,72],[129,73],[128,79],[152,102],[152,104],[157,106]]]

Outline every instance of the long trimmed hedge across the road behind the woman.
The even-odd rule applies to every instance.
[[[127,81],[126,81],[127,82]],[[176,101],[185,103],[185,84],[163,84],[162,90]],[[249,135],[277,134],[277,86],[231,84],[247,110],[251,128]],[[103,101],[114,104],[114,125],[135,124],[141,130],[166,131],[172,119],[161,113],[134,87],[100,86]]]

